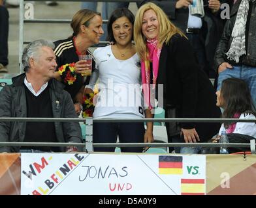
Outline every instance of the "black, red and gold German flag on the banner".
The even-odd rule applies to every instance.
[[[159,156],[159,174],[182,175],[182,157]]]

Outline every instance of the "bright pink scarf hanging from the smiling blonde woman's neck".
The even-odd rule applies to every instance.
[[[153,86],[152,89],[155,88],[155,84],[157,82],[157,75],[159,70],[159,58],[161,54],[162,47],[157,48],[157,40],[147,40],[147,48],[148,48],[148,57],[147,60],[142,60],[141,62],[141,76],[142,76],[142,89],[144,93],[144,101],[146,101],[146,106],[151,110],[154,106],[155,98],[151,96],[150,90],[150,62],[152,62],[153,66]]]

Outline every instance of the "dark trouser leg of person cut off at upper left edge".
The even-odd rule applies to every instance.
[[[5,6],[0,6],[0,63],[8,64],[9,13]]]

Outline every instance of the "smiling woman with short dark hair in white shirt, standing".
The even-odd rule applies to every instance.
[[[114,10],[108,21],[108,40],[112,45],[93,53],[96,62],[86,93],[91,92],[99,77],[97,103],[93,118],[144,118],[140,88],[140,59],[133,40],[135,16],[127,8]],[[93,123],[93,143],[152,142],[145,133],[144,123]],[[94,148],[94,151],[114,151],[114,148]],[[141,152],[142,148],[121,148],[121,151]]]

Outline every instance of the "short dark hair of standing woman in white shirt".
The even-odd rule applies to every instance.
[[[116,21],[116,19],[121,17],[126,17],[127,19],[129,19],[132,25],[135,22],[135,16],[133,15],[133,12],[131,12],[128,8],[117,8],[116,10],[114,10],[108,20],[108,37],[106,38],[107,41],[116,43],[113,34],[112,24],[114,23],[114,21]]]

